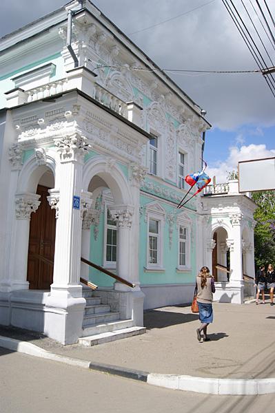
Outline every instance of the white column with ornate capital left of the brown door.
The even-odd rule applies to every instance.
[[[40,195],[36,193],[17,193],[15,198],[16,213],[16,238],[14,248],[14,275],[12,277],[12,290],[29,288],[27,281],[28,248],[30,233],[30,214],[37,211]]]

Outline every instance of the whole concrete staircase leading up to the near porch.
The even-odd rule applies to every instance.
[[[111,311],[109,305],[101,304],[101,298],[93,297],[90,288],[83,288],[83,297],[86,307],[82,337],[79,337],[82,346],[95,346],[146,332],[145,327],[134,326],[132,319],[121,320],[120,313]]]

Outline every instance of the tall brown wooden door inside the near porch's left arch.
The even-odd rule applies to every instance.
[[[53,280],[56,219],[47,200],[48,189],[38,185],[41,204],[30,220],[27,280],[32,290],[49,290]]]

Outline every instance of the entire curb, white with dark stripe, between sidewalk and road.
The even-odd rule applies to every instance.
[[[19,341],[3,336],[0,336],[0,346],[8,348],[9,350],[29,354],[34,357],[59,361],[61,363],[69,364],[70,366],[77,366],[108,374],[114,374],[116,376],[139,380],[148,384],[173,390],[184,390],[186,392],[204,394],[231,395],[275,393],[275,379],[210,379],[207,377],[193,377],[177,374],[147,373],[130,368],[112,366],[110,364],[71,359],[70,357],[51,353],[48,350],[44,350],[43,348],[35,346],[35,344],[28,343],[27,341]]]

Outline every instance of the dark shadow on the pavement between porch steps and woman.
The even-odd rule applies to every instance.
[[[144,326],[147,330],[165,328],[195,320],[198,320],[196,314],[170,313],[170,311],[159,310],[149,310],[144,313]]]

